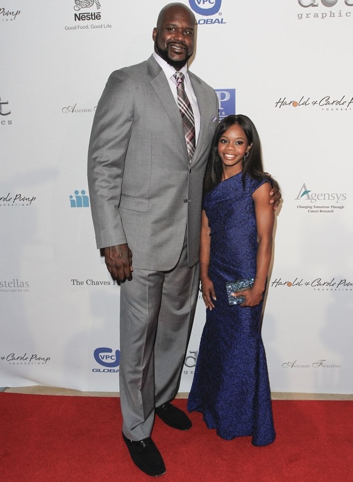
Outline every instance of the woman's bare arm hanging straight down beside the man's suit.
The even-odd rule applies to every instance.
[[[202,210],[201,218],[201,238],[200,238],[200,279],[202,298],[205,302],[206,308],[212,310],[214,304],[212,299],[216,299],[212,281],[208,277],[208,268],[210,265],[210,249],[211,237],[210,227],[208,225],[208,218],[204,210]]]

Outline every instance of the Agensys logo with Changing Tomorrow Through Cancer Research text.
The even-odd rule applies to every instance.
[[[308,189],[305,182],[299,190],[297,209],[310,214],[333,214],[345,209],[344,201],[347,199],[345,192],[318,192]]]

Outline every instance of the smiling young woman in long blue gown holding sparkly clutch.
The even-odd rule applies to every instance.
[[[202,412],[219,437],[252,436],[258,446],[275,439],[261,337],[272,256],[271,188],[255,125],[245,115],[226,117],[215,132],[204,180],[200,276],[206,324],[188,410]],[[225,283],[248,278],[254,284],[241,293],[245,301],[229,305]]]

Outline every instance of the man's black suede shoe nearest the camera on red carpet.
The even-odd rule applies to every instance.
[[[123,439],[128,446],[134,464],[137,465],[140,470],[154,477],[165,473],[162,456],[151,437],[135,442],[134,440],[129,440],[123,434]]]

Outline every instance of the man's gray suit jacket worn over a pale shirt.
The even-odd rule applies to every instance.
[[[133,266],[166,271],[188,236],[198,261],[202,183],[217,126],[211,87],[189,72],[201,126],[191,164],[183,124],[153,56],[113,72],[98,102],[88,151],[88,184],[97,247],[128,243]]]

